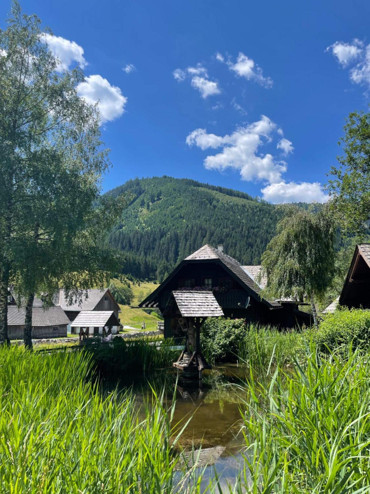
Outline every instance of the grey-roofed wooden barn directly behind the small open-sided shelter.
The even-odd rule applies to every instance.
[[[70,300],[66,296],[65,290],[63,288],[60,288],[53,297],[53,303],[54,305],[61,307],[64,310],[65,314],[68,316],[70,323],[68,325],[68,331],[71,331],[72,334],[78,334],[80,327],[86,329],[91,328],[91,333],[94,334],[103,333],[105,325],[103,326],[88,325],[89,322],[91,324],[94,323],[94,315],[92,314],[90,317],[87,313],[95,312],[95,311],[110,312],[110,314],[114,316],[110,320],[114,322],[114,324],[111,325],[112,333],[116,333],[119,328],[118,313],[120,312],[120,308],[117,302],[114,300],[114,297],[108,288],[103,288],[103,289],[93,288],[86,290],[83,296],[81,297],[81,299],[73,299],[73,300]],[[83,320],[81,319],[81,322],[83,324],[81,324],[81,326],[76,326],[76,325],[71,326],[71,323],[74,322],[74,320],[80,314],[81,311],[83,311],[85,315],[84,319]]]

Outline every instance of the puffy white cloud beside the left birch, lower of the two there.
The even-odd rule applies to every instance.
[[[99,102],[102,124],[120,117],[127,102],[119,87],[112,86],[107,79],[99,75],[86,77],[84,82],[78,84],[77,93],[89,104]]]

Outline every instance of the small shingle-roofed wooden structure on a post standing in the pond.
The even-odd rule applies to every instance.
[[[200,331],[207,317],[223,316],[223,311],[212,291],[174,290],[164,316],[177,318],[185,332],[185,347],[173,366],[201,379],[204,369],[211,369],[200,346]]]

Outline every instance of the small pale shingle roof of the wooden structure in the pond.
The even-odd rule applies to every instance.
[[[212,291],[172,292],[183,317],[219,317],[223,311]]]

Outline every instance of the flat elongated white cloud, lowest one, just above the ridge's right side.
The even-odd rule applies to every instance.
[[[324,194],[319,182],[281,182],[272,183],[261,189],[262,197],[273,204],[280,203],[310,203],[316,201],[325,203],[328,196]]]

